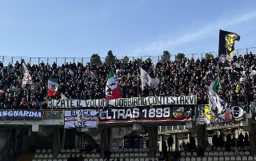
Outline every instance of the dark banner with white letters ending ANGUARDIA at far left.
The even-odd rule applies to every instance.
[[[0,110],[1,120],[42,120],[42,110]]]

